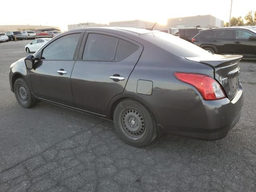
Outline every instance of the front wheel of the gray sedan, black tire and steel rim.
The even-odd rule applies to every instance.
[[[24,108],[30,108],[36,105],[36,99],[23,78],[18,78],[14,83],[14,93],[18,103]]]

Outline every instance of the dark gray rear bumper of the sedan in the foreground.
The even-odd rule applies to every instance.
[[[240,119],[244,103],[242,86],[236,96],[201,100],[189,110],[149,106],[160,126],[160,134],[176,134],[202,140],[224,138]]]

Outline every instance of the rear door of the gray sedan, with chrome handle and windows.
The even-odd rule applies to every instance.
[[[71,75],[77,108],[106,115],[110,100],[124,91],[143,46],[107,32],[89,31]]]

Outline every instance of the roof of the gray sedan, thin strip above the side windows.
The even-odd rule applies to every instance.
[[[152,30],[148,30],[145,28],[132,28],[132,27],[88,27],[88,28],[81,28],[81,29],[74,29],[70,31],[78,31],[78,30],[96,30],[96,31],[104,31],[104,32],[123,32],[123,33],[128,33],[128,34],[146,34],[146,33],[152,33]],[[70,32],[69,31],[69,32]],[[159,32],[154,30],[154,32]]]

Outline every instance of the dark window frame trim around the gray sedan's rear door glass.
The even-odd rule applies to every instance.
[[[98,61],[98,60],[84,60],[83,59],[83,54],[84,54],[84,49],[85,49],[85,45],[86,45],[86,42],[87,42],[87,38],[88,38],[88,35],[90,33],[95,33],[95,34],[102,34],[102,35],[108,35],[108,36],[112,36],[112,37],[115,37],[115,38],[118,38],[118,41],[117,41],[117,44],[116,44],[116,49],[115,49],[115,53],[114,53],[114,59],[112,61],[103,61],[103,60],[100,60],[99,62],[118,62],[118,61],[121,61],[121,60],[124,60],[125,58],[127,58],[128,56],[130,56],[131,54],[133,54],[134,52],[136,52],[137,50],[140,49],[140,47],[142,48],[142,50],[144,49],[143,46],[134,41],[134,40],[129,40],[129,38],[126,38],[126,37],[123,37],[121,35],[118,35],[118,34],[114,34],[114,33],[110,33],[110,32],[104,32],[104,31],[94,31],[94,30],[86,30],[85,31],[85,34],[84,34],[84,38],[82,40],[82,44],[81,44],[81,48],[79,50],[79,53],[78,53],[78,58],[77,60],[80,60],[80,61]],[[117,47],[118,47],[118,43],[119,43],[119,40],[122,39],[124,41],[127,41],[129,43],[132,43],[136,46],[138,46],[138,48],[132,52],[131,54],[129,54],[128,56],[126,56],[125,58],[122,58],[120,60],[115,60],[115,56],[116,56],[116,51],[117,51]]]

